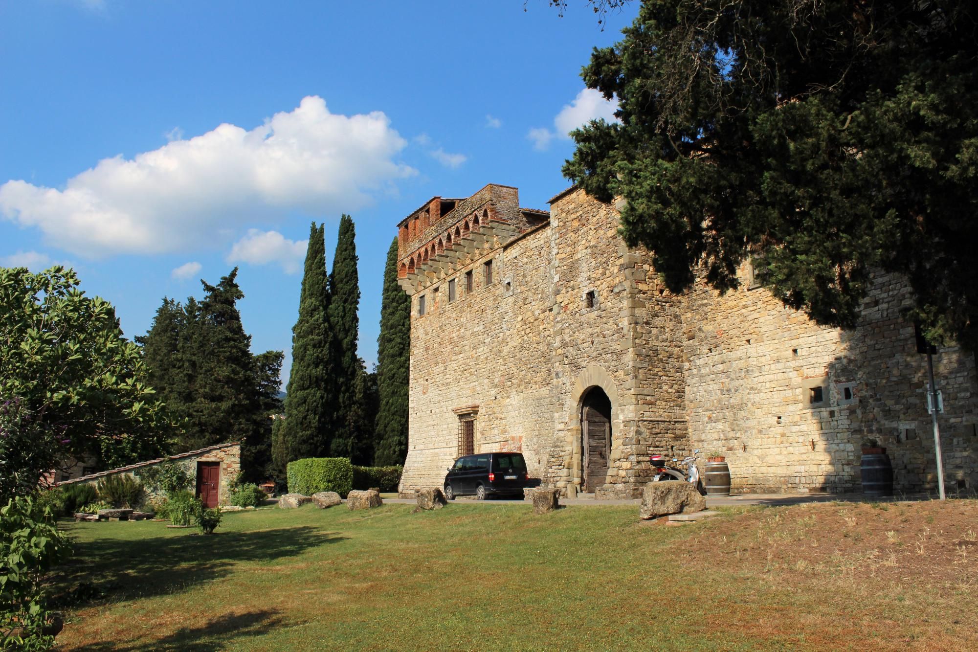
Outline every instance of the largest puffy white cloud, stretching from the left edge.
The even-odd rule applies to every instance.
[[[350,212],[417,170],[381,112],[331,114],[303,98],[250,131],[221,124],[132,160],[105,159],[63,190],[0,185],[0,214],[84,256],[186,251],[288,210]]]

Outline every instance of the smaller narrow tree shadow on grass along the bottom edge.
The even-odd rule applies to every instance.
[[[281,626],[283,619],[277,611],[249,611],[244,614],[225,614],[198,628],[182,628],[149,643],[116,644],[92,643],[83,650],[113,652],[150,652],[152,650],[187,650],[210,652],[229,649],[242,638],[261,636]]]

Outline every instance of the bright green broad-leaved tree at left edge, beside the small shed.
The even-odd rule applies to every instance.
[[[68,457],[157,456],[170,424],[111,303],[71,269],[0,268],[0,504]]]

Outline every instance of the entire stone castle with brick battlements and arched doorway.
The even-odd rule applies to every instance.
[[[546,486],[636,496],[648,455],[725,455],[734,491],[859,490],[860,443],[898,490],[934,489],[926,356],[908,286],[874,279],[854,330],[818,326],[752,280],[667,291],[618,214],[578,188],[551,211],[516,188],[432,198],[399,227],[411,295],[408,456],[400,490],[440,487],[462,454],[522,451]],[[978,486],[975,357],[934,357],[950,491]]]

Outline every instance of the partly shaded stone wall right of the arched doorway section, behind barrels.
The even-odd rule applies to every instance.
[[[692,444],[727,457],[734,490],[835,492],[861,489],[860,444],[872,437],[888,449],[896,489],[934,489],[926,356],[901,317],[911,301],[906,283],[877,276],[859,326],[843,331],[814,324],[763,288],[748,289],[743,271],[742,287],[725,296],[702,283],[689,293]],[[973,489],[974,357],[943,349],[935,362],[948,484]],[[816,388],[823,400],[813,403]]]

